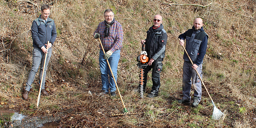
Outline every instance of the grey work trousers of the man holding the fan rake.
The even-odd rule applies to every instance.
[[[198,71],[199,75],[202,78],[202,64],[198,65],[196,70],[192,68],[192,63],[188,61],[184,61],[183,64],[183,80],[182,80],[182,93],[184,100],[190,100],[190,90],[191,90],[191,77],[192,77],[192,84],[195,89],[194,97],[198,97],[198,102],[201,100],[202,95],[202,84],[199,76],[196,74],[196,70]]]

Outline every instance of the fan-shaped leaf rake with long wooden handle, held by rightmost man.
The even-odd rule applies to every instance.
[[[180,39],[179,39],[179,41],[180,41]],[[184,51],[185,51],[186,54],[188,55],[188,52],[187,52],[187,50],[185,49],[184,45],[182,45],[182,48],[184,49]],[[189,57],[189,55],[188,55],[188,58],[189,58],[191,64],[194,65],[194,64],[193,64],[193,61],[191,60],[191,58]],[[196,70],[196,69],[195,69],[195,70]],[[202,78],[201,78],[201,76],[199,75],[199,73],[198,73],[197,70],[196,70],[196,74],[197,74],[197,76],[199,76],[199,79],[201,80],[202,84],[204,85],[204,82],[203,82],[203,80],[202,80]],[[221,111],[215,106],[215,104],[214,104],[214,102],[213,102],[213,100],[212,100],[212,97],[211,97],[210,93],[208,92],[208,90],[207,90],[207,88],[206,88],[205,85],[204,85],[204,89],[206,90],[208,96],[210,97],[210,99],[211,99],[211,101],[212,101],[212,105],[213,105],[212,119],[214,119],[214,120],[219,120],[224,114],[223,114],[223,112],[221,112]]]

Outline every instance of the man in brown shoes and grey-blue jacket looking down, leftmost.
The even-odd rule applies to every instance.
[[[31,84],[34,81],[36,72],[40,65],[39,72],[39,84],[41,83],[45,53],[47,53],[46,63],[44,68],[44,77],[42,81],[42,93],[45,96],[49,96],[48,92],[45,91],[44,82],[46,76],[46,69],[50,57],[52,55],[52,45],[57,37],[54,21],[49,18],[50,6],[44,4],[41,6],[41,15],[33,21],[31,27],[32,39],[33,39],[33,64],[28,75],[28,81],[26,83],[25,90],[22,94],[24,100],[28,100],[28,92],[31,89]],[[47,42],[50,41],[49,44]],[[47,50],[48,48],[48,50]],[[40,64],[41,63],[41,64]]]

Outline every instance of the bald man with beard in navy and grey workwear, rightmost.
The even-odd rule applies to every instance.
[[[192,29],[188,29],[185,33],[180,34],[180,45],[184,45],[186,39],[186,51],[193,61],[191,64],[187,54],[184,52],[183,59],[183,80],[182,80],[182,93],[183,98],[178,100],[179,103],[190,102],[190,89],[191,89],[191,77],[193,87],[195,89],[192,107],[197,107],[202,96],[202,85],[199,76],[196,74],[196,70],[202,78],[202,63],[204,55],[206,53],[208,35],[203,29],[203,20],[196,18]]]

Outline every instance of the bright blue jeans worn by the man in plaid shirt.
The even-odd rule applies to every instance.
[[[116,91],[116,84],[113,79],[113,76],[108,68],[107,60],[103,59],[103,51],[100,50],[100,73],[101,73],[101,83],[102,83],[102,90],[105,92],[115,92]],[[117,80],[117,65],[120,58],[120,50],[116,50],[108,59],[109,65],[112,69],[115,79]],[[109,81],[108,81],[109,75]]]

